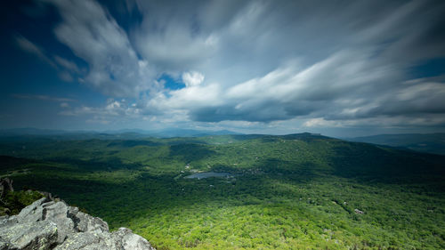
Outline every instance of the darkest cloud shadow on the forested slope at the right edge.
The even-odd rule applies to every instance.
[[[384,149],[366,143],[340,144],[328,161],[334,169],[333,174],[363,181],[400,183],[445,176],[445,157]]]

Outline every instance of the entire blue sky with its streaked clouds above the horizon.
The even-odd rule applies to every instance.
[[[445,132],[444,1],[3,5],[0,128]]]

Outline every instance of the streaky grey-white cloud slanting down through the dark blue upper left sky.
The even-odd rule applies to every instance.
[[[45,0],[61,12],[54,33],[77,57],[89,65],[85,83],[111,96],[137,96],[150,90],[155,74],[138,59],[125,30],[93,0]],[[67,69],[78,69],[56,58]]]

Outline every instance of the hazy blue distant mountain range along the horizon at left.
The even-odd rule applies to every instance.
[[[122,129],[122,130],[108,130],[108,131],[65,131],[65,130],[51,130],[51,129],[38,129],[38,128],[14,128],[14,129],[2,129],[0,130],[0,137],[11,136],[56,136],[56,137],[77,137],[81,139],[90,138],[142,138],[142,137],[158,137],[158,138],[171,138],[171,137],[200,137],[208,135],[226,135],[226,134],[243,134],[236,133],[229,130],[193,130],[182,128],[168,128],[162,130],[143,130],[143,129]]]

